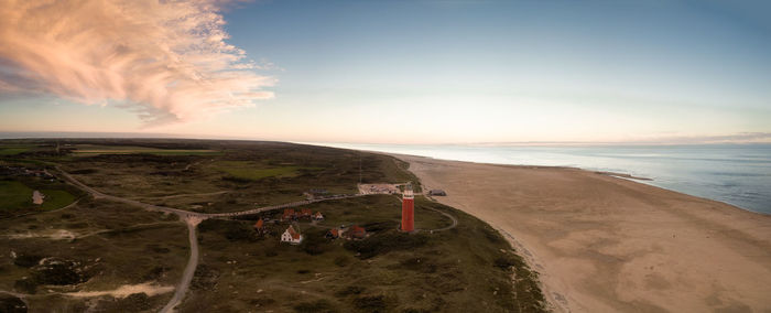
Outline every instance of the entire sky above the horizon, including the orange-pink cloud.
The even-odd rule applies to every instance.
[[[771,142],[768,1],[0,1],[4,132]]]

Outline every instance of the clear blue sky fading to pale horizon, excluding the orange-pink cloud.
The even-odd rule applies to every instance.
[[[241,3],[222,13],[226,42],[276,79],[265,88],[274,98],[146,128],[112,102],[6,96],[0,130],[387,143],[757,140],[771,133],[771,8],[724,2]]]

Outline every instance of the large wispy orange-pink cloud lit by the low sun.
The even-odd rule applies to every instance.
[[[227,1],[0,0],[0,93],[118,104],[148,125],[272,98],[225,42]]]

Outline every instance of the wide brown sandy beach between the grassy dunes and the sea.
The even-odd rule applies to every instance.
[[[578,169],[394,156],[524,249],[556,311],[771,311],[769,215]]]

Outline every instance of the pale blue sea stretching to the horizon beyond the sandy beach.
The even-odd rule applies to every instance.
[[[771,214],[771,144],[496,145],[312,143],[493,164],[571,166],[647,177],[684,194]]]

